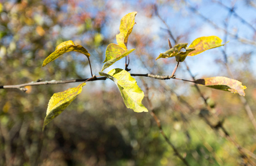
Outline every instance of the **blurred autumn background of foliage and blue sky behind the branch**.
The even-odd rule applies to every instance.
[[[83,45],[98,75],[106,46],[116,43],[120,19],[137,11],[129,37],[130,73],[171,75],[175,58],[155,60],[172,45],[217,35],[228,44],[186,58],[176,77],[226,76],[247,86],[245,97],[179,80],[135,77],[163,131],[190,165],[255,162],[256,1],[0,1],[0,85],[90,77],[88,60],[66,53],[42,68],[66,40]],[[125,59],[105,72],[125,68]],[[78,83],[79,84],[79,83]],[[111,80],[88,82],[42,132],[50,97],[78,84],[0,89],[0,165],[185,165],[162,137],[150,113],[127,109]],[[207,105],[206,103],[207,102]],[[150,106],[152,105],[152,106]],[[239,146],[212,128],[221,123]]]

